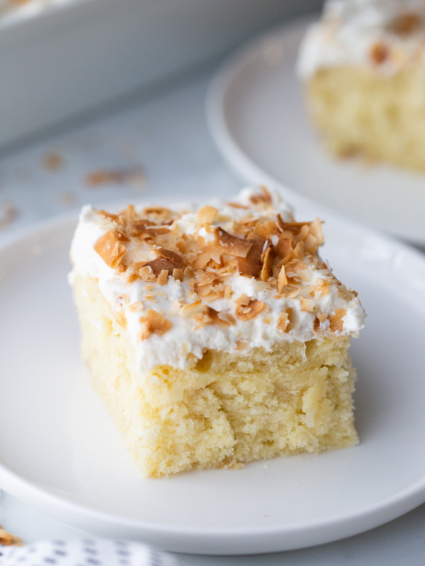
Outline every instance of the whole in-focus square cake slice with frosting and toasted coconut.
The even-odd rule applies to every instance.
[[[143,475],[353,446],[363,308],[319,219],[243,190],[200,208],[84,207],[70,280],[94,386]]]

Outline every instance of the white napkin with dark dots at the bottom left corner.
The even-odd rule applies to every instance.
[[[1,566],[183,566],[140,543],[84,539],[0,546]]]

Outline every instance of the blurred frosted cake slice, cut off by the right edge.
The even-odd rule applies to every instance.
[[[298,74],[332,154],[425,171],[424,0],[327,1]]]

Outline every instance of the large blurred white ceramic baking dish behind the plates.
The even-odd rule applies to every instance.
[[[4,4],[14,8],[4,12]],[[160,86],[165,91],[306,4],[319,8],[320,0],[296,8],[292,0],[17,4],[0,0],[0,151],[156,96]]]

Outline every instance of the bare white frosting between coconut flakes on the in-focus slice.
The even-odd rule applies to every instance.
[[[239,202],[249,206],[249,209],[238,209],[227,206],[224,202],[211,202],[213,206],[220,210],[219,216],[213,226],[229,226],[229,219],[238,219],[246,214],[258,218],[263,214],[270,215],[270,209],[261,211],[254,207],[249,201],[249,197],[255,194],[255,190],[247,189],[239,193],[239,196],[232,202]],[[258,190],[257,190],[258,192]],[[280,213],[284,221],[290,221],[292,214],[287,205],[280,199],[278,194],[273,194],[274,212]],[[227,217],[227,218],[225,218]],[[200,228],[196,222],[196,207],[192,212],[183,214],[176,221],[179,229],[185,233],[200,233],[203,236],[205,229]],[[340,335],[356,335],[358,330],[363,327],[365,312],[360,301],[351,293],[346,292],[345,287],[339,286],[336,282],[331,284],[327,294],[316,294],[312,298],[310,291],[314,287],[317,279],[326,279],[331,274],[327,269],[317,269],[312,263],[305,259],[310,271],[311,280],[302,282],[300,296],[314,302],[314,313],[303,311],[300,304],[300,296],[288,298],[281,296],[274,297],[277,290],[270,289],[259,279],[242,277],[238,273],[229,276],[226,283],[232,286],[233,294],[230,299],[220,298],[209,304],[216,311],[225,313],[235,312],[235,300],[242,294],[246,294],[251,299],[263,301],[266,308],[255,318],[250,320],[236,319],[234,325],[208,324],[197,328],[193,318],[184,318],[179,313],[173,314],[174,301],[193,302],[193,291],[188,287],[186,279],[180,282],[173,277],[169,277],[166,285],[159,285],[156,282],[148,284],[141,279],[136,279],[132,283],[128,282],[125,272],[118,272],[106,265],[100,255],[94,250],[94,244],[108,229],[111,228],[111,221],[98,214],[91,206],[82,209],[79,225],[72,241],[71,257],[74,263],[74,270],[70,275],[70,280],[76,273],[94,277],[98,279],[99,288],[106,299],[111,304],[113,311],[123,310],[127,318],[126,331],[130,341],[135,347],[137,364],[140,369],[149,369],[158,364],[169,364],[184,368],[189,359],[188,354],[200,358],[206,349],[221,350],[232,352],[237,348],[238,342],[245,342],[249,348],[264,347],[270,350],[276,342],[284,340],[301,340],[303,342],[313,337],[324,337],[329,335],[329,320],[322,324],[320,332],[314,330],[315,313],[327,313],[331,315],[338,308],[346,310],[343,318],[344,329]],[[132,246],[128,247],[128,254],[134,253]],[[152,259],[152,250],[145,252],[144,260]],[[153,287],[153,291],[152,291]],[[268,288],[266,288],[268,287]],[[155,301],[149,302],[147,296],[154,294]],[[192,296],[191,300],[188,297]],[[172,327],[162,335],[152,334],[149,338],[140,338],[140,316],[141,311],[133,311],[130,306],[141,301],[145,308],[154,308],[162,313],[171,321]],[[286,307],[293,308],[293,330],[284,333],[278,329],[278,317],[285,311]],[[171,309],[171,314],[170,314]],[[94,326],[98,321],[94,320]],[[335,333],[332,333],[335,335]]]

